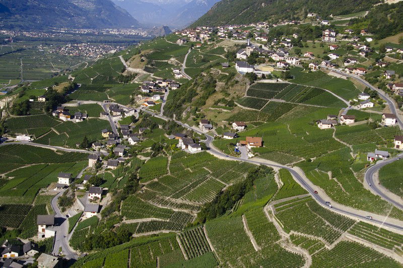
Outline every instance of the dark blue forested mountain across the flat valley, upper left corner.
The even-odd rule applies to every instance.
[[[0,0],[0,21],[13,29],[139,27],[110,0]]]

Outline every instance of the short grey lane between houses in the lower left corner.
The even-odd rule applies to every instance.
[[[66,218],[65,214],[62,214],[59,208],[57,207],[57,200],[63,194],[65,190],[56,194],[56,196],[52,199],[52,208],[55,211],[55,221],[57,225],[56,236],[53,245],[53,254],[59,254],[59,248],[61,247],[61,254],[64,255],[67,259],[77,259],[78,255],[71,249],[69,245],[69,221]]]

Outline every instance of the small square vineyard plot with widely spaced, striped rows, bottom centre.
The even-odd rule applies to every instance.
[[[202,227],[186,230],[178,234],[186,258],[194,258],[211,251]]]

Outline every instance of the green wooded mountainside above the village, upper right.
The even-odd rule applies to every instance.
[[[323,18],[369,10],[381,0],[222,0],[190,27],[304,19],[308,12]]]

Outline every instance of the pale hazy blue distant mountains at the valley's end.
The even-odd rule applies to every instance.
[[[219,0],[113,0],[133,18],[149,26],[187,26]]]

